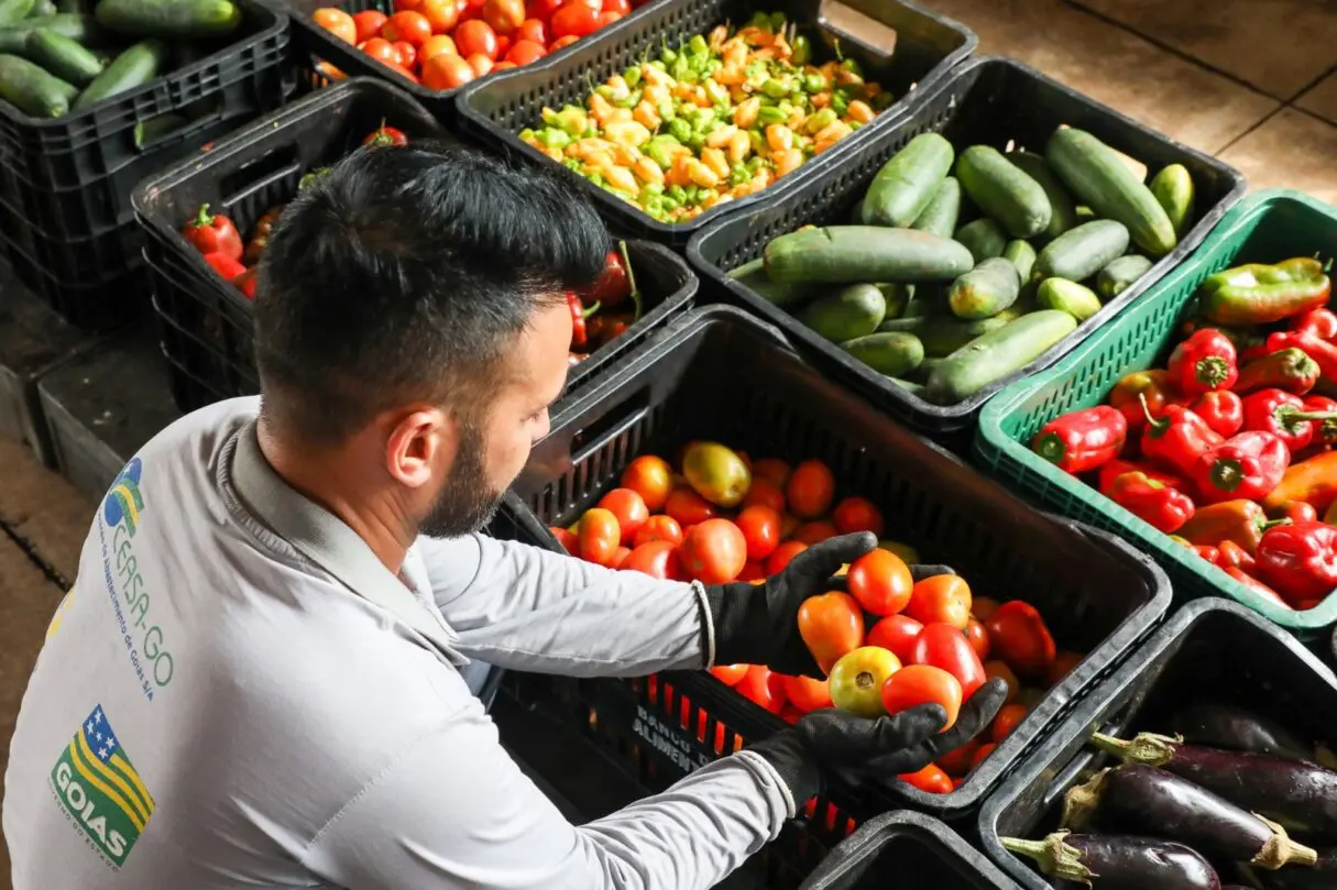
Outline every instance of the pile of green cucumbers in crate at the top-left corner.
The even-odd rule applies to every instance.
[[[60,118],[139,87],[242,24],[231,0],[0,0],[0,99]]]

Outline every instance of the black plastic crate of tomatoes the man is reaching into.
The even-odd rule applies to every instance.
[[[638,350],[615,380],[556,412],[552,432],[512,485],[528,508],[515,521],[558,549],[547,527],[575,521],[638,454],[671,454],[693,440],[758,457],[824,460],[838,490],[882,508],[888,537],[915,545],[929,563],[953,565],[981,595],[1035,604],[1062,647],[1088,652],[959,790],[933,795],[889,782],[840,795],[858,818],[906,804],[949,819],[972,812],[1169,607],[1169,581],[1146,556],[1114,536],[1035,512],[888,422],[824,378],[773,327],[729,306],[690,313]],[[735,750],[739,738],[761,739],[785,726],[699,671],[596,680],[580,690],[602,724],[639,738],[643,751],[677,775]],[[834,817],[837,825],[842,819]]]

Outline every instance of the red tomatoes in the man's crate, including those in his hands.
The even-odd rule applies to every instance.
[[[821,461],[797,466],[753,461],[718,442],[690,442],[675,473],[656,456],[635,458],[619,488],[571,528],[552,528],[572,555],[652,577],[754,584],[796,555],[836,535],[882,537],[881,510],[864,497],[837,501],[836,478]],[[1008,736],[1027,712],[1080,661],[1059,651],[1040,613],[1027,603],[972,596],[956,575],[915,583],[913,548],[880,540],[872,553],[841,571],[846,591],[805,601],[798,629],[825,679],[783,676],[762,665],[711,668],[721,683],[790,723],[840,707],[866,716],[941,704],[956,720],[961,703],[989,678],[1008,686],[1008,700],[985,734],[902,779],[947,794]],[[658,698],[650,680],[651,700]],[[679,715],[687,726],[689,715]],[[699,715],[699,740],[706,720]],[[742,746],[737,739],[735,750]],[[714,750],[725,752],[725,727]]]

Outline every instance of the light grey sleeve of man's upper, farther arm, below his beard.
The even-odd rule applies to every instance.
[[[417,547],[432,597],[465,656],[567,676],[643,676],[714,663],[699,584],[483,535],[422,539]]]

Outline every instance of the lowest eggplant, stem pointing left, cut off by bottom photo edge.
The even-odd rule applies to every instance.
[[[1035,859],[1043,874],[1095,890],[1221,890],[1207,861],[1182,843],[1067,831],[1044,841],[1000,841]]]

